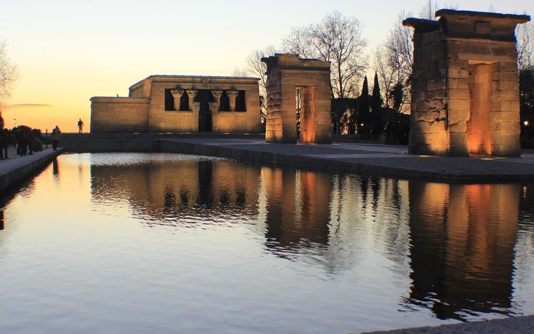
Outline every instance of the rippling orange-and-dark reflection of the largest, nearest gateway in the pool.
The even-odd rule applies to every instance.
[[[439,319],[512,307],[520,185],[410,183],[409,302]]]

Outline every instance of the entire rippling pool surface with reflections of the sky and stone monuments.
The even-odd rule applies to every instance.
[[[64,154],[0,205],[0,332],[343,333],[533,314],[533,200],[528,183]]]

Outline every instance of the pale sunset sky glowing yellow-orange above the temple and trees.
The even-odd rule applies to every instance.
[[[448,4],[449,2],[447,2]],[[230,75],[254,49],[279,46],[291,27],[334,10],[364,24],[368,51],[384,41],[403,9],[424,1],[6,1],[0,39],[19,71],[6,126],[89,130],[92,96],[128,96],[152,74]],[[534,2],[457,1],[460,10],[527,13]]]

